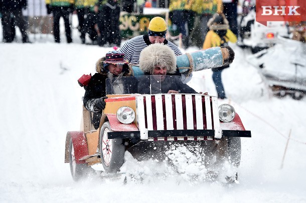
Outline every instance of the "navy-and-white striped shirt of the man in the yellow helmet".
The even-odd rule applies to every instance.
[[[181,55],[181,50],[171,41],[165,39],[167,44],[176,55]],[[117,51],[124,53],[124,59],[128,60],[131,64],[139,64],[139,56],[142,49],[147,47],[151,42],[148,39],[147,34],[135,36],[127,40]]]

